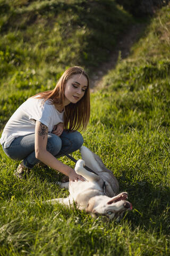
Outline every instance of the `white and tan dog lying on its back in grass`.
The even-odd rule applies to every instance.
[[[128,194],[123,192],[117,195],[118,181],[113,173],[105,167],[101,158],[84,146],[80,151],[82,159],[75,164],[75,172],[81,175],[85,181],[58,182],[62,188],[69,189],[69,197],[56,198],[46,202],[61,203],[66,206],[75,204],[78,209],[85,210],[92,217],[105,215],[109,219],[118,219],[124,211],[132,210],[132,204],[127,201]],[[96,174],[84,169],[85,163]]]

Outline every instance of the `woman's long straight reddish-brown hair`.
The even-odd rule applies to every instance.
[[[64,107],[64,84],[74,74],[84,75],[88,81],[88,87],[77,103],[70,103]],[[50,104],[62,106],[64,109],[64,128],[68,131],[83,130],[87,127],[90,118],[90,88],[89,77],[81,67],[71,67],[65,70],[58,80],[55,88],[51,91],[40,92],[37,96],[39,99],[50,100]]]

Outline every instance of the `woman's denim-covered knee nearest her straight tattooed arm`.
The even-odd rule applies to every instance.
[[[62,140],[55,134],[48,134],[47,151],[53,156],[57,155],[62,148]]]

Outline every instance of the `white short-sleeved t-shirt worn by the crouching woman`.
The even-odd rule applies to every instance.
[[[35,133],[36,121],[45,124],[48,132],[52,132],[58,123],[63,123],[64,112],[60,113],[49,103],[49,100],[43,103],[43,99],[36,97],[23,102],[5,125],[0,140],[1,145],[4,143],[4,148],[8,148],[15,138]]]

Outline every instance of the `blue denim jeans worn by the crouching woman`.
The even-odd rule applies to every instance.
[[[48,133],[47,151],[49,151],[56,158],[64,156],[64,153],[70,154],[73,151],[78,150],[82,144],[83,137],[77,131],[63,131],[60,137],[53,133]],[[24,165],[28,168],[32,168],[34,165],[40,162],[36,158],[35,154],[34,133],[15,138],[10,147],[3,147],[3,150],[10,158],[23,160]]]

